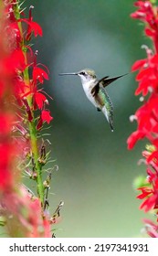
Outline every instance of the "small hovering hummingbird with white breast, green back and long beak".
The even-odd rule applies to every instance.
[[[111,132],[113,132],[113,104],[108,92],[105,90],[105,87],[126,74],[114,78],[106,76],[100,80],[97,79],[95,71],[92,69],[82,69],[79,72],[59,74],[59,76],[65,75],[79,76],[87,98],[96,107],[98,112],[103,112],[108,123],[110,123]]]

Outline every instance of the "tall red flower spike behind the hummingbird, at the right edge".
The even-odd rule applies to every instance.
[[[154,210],[158,216],[158,7],[150,1],[137,1],[134,4],[138,9],[132,14],[132,18],[144,23],[144,33],[153,42],[153,50],[146,49],[146,59],[137,60],[132,71],[138,70],[136,80],[139,85],[135,95],[142,93],[142,107],[134,114],[138,126],[137,130],[128,138],[128,148],[141,139],[147,138],[150,145],[143,151],[145,158],[147,179],[145,185],[139,187],[142,199],[140,208],[145,212]],[[157,218],[158,220],[158,218]],[[158,225],[150,220],[145,220],[147,233],[152,237],[158,237]]]

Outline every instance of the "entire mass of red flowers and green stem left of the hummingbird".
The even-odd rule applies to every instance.
[[[21,6],[16,0],[4,0],[0,5],[0,222],[5,216],[10,236],[51,237],[50,225],[57,222],[59,210],[50,217],[48,202],[44,206],[42,201],[41,194],[49,188],[49,180],[45,186],[38,184],[46,150],[40,155],[36,147],[36,129],[53,119],[47,110],[47,93],[40,88],[48,80],[48,69],[37,63],[37,51],[33,53],[29,44],[33,36],[42,36],[42,28],[33,20],[33,6],[28,18]],[[32,159],[33,171],[23,166],[26,157],[27,162]],[[42,187],[42,192],[37,190],[38,197],[21,185],[24,170],[19,166]]]

